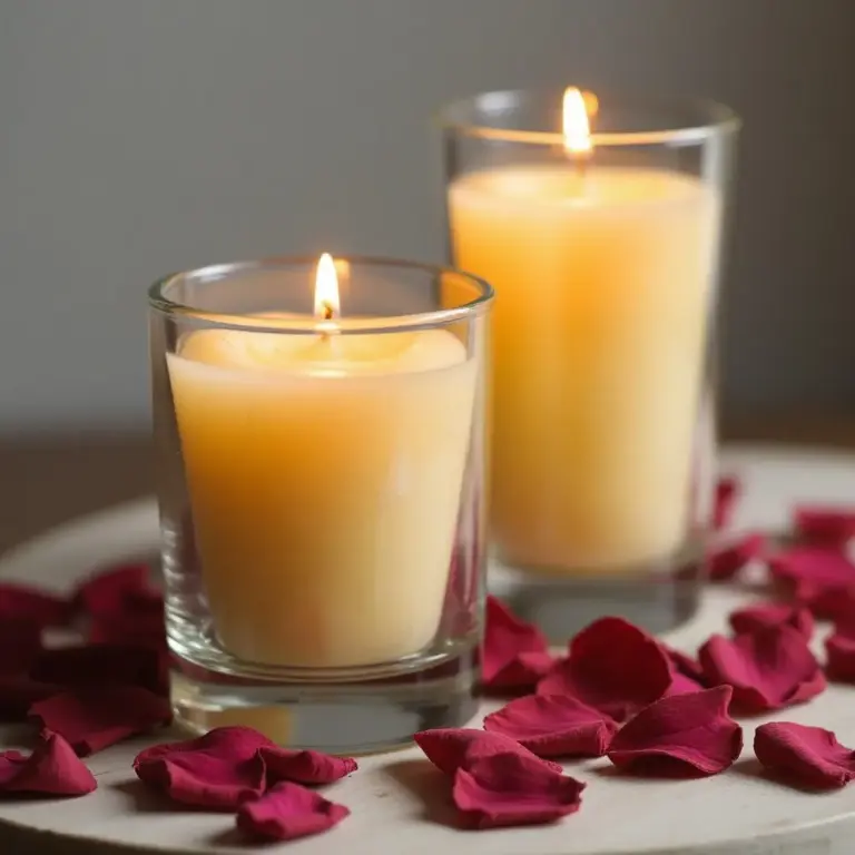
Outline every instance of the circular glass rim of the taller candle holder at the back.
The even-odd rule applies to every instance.
[[[560,130],[539,130],[499,128],[489,122],[466,121],[455,117],[455,114],[473,115],[483,110],[492,101],[494,105],[505,102],[509,107],[519,104],[520,100],[532,97],[552,95],[556,104],[561,104],[561,97],[566,87],[542,89],[497,89],[478,92],[442,106],[435,115],[435,124],[444,131],[453,131],[460,136],[497,140],[503,142],[520,142],[539,146],[562,146],[563,134]],[[587,87],[579,87],[586,90]],[[708,117],[701,122],[674,122],[674,127],[662,127],[653,130],[621,130],[621,131],[593,131],[591,144],[598,147],[618,146],[660,146],[660,145],[688,145],[699,144],[710,137],[724,134],[733,134],[741,127],[738,114],[725,104],[707,98],[685,96],[650,96],[636,94],[632,90],[600,90],[599,98],[615,98],[631,102],[637,107],[649,107],[669,110],[694,109],[698,114]]]

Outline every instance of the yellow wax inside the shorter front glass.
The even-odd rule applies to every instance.
[[[348,667],[429,645],[475,394],[461,342],[207,330],[167,358],[224,647]]]

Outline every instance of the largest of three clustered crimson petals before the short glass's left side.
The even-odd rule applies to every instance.
[[[134,772],[176,802],[234,810],[266,788],[263,747],[274,744],[257,730],[218,727],[196,739],[146,748],[134,760]]]

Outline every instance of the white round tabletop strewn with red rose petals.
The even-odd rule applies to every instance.
[[[855,455],[740,446],[724,455],[746,493],[735,529],[782,529],[796,501],[855,504]],[[157,543],[154,500],[63,525],[0,560],[0,578],[68,588],[94,567],[150,553]],[[698,617],[669,636],[695,649],[746,602],[712,587]],[[484,704],[482,715],[497,704]],[[608,760],[568,764],[586,780],[581,810],[552,826],[490,832],[450,827],[448,785],[415,748],[360,760],[360,770],[330,788],[352,816],[317,837],[259,847],[294,855],[852,855],[855,785],[809,795],[758,775],[754,728],[795,720],[835,730],[855,745],[855,687],[832,686],[819,698],[768,718],[744,721],[746,747],[734,768],[702,780],[641,780],[616,775]],[[476,726],[478,720],[473,721]],[[0,852],[39,855],[242,853],[234,817],[184,810],[148,793],[130,764],[153,741],[136,739],[89,758],[91,795],[72,799],[0,800]],[[176,737],[177,738],[177,737]],[[26,747],[20,727],[0,728],[0,747]]]

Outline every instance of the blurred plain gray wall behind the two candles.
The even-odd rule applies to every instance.
[[[726,403],[855,409],[853,39],[853,0],[4,0],[0,429],[144,424],[164,272],[441,258],[426,117],[572,80],[743,114]]]

